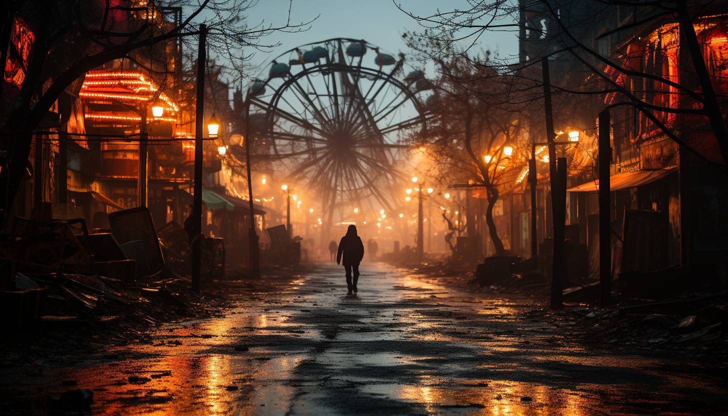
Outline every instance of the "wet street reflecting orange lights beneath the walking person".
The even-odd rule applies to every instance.
[[[531,319],[527,299],[458,293],[385,264],[363,267],[347,296],[342,269],[41,377],[1,370],[0,414],[47,414],[47,397],[74,388],[94,392],[95,415],[727,413],[726,376],[711,366],[579,345],[564,336],[573,322]]]

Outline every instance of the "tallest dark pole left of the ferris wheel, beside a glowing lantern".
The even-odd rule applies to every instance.
[[[199,25],[199,45],[197,49],[197,91],[195,97],[196,114],[194,121],[194,196],[192,198],[192,290],[199,293],[202,251],[200,249],[202,234],[202,123],[205,117],[205,62],[207,42],[207,25]]]

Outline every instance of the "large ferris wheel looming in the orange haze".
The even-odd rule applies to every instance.
[[[432,84],[405,66],[401,53],[329,39],[280,55],[250,87],[256,160],[315,192],[327,224],[337,209],[340,221],[347,207],[392,209],[392,189],[409,178],[405,138],[430,117]]]

